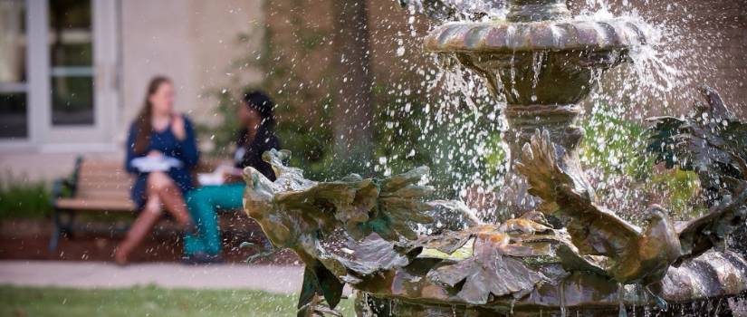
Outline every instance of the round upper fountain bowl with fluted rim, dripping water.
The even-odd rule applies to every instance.
[[[595,74],[627,60],[646,37],[632,21],[450,23],[425,39],[454,54],[509,105],[570,105],[589,95]]]

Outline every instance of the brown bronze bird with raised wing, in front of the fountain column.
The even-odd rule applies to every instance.
[[[646,211],[646,227],[633,226],[593,201],[574,168],[561,166],[564,149],[552,144],[546,130],[538,131],[524,145],[519,171],[532,186],[530,193],[560,208],[555,216],[565,219],[573,245],[619,283],[652,283],[666,274],[680,256],[679,239],[666,212],[660,207]]]

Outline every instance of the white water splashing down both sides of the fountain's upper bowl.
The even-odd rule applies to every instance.
[[[444,3],[457,8],[461,13],[458,19],[461,20],[469,19],[475,12],[488,13],[490,19],[502,19],[506,14],[505,4],[498,1],[452,0]],[[684,14],[686,8],[682,5],[668,4],[666,11],[672,16],[688,16]],[[416,14],[417,10],[410,13]],[[630,157],[636,151],[609,148],[610,140],[627,143],[632,149],[642,149],[645,145],[646,140],[640,138],[641,129],[630,130],[626,124],[618,121],[627,120],[642,127],[645,124],[643,120],[649,116],[668,114],[670,111],[675,111],[676,115],[677,111],[689,107],[695,99],[692,88],[709,78],[707,55],[697,52],[701,46],[694,45],[705,36],[704,32],[694,34],[681,21],[668,16],[657,17],[655,14],[656,10],[639,10],[627,1],[613,6],[606,0],[587,0],[573,18],[594,22],[614,19],[615,22],[611,23],[613,27],[615,24],[635,24],[645,34],[648,43],[627,53],[632,61],[629,66],[608,72],[604,80],[599,73],[597,88],[586,101],[589,104],[586,126],[604,127],[607,133],[586,139],[588,148],[604,149],[605,155],[601,159],[585,157],[582,161],[595,186],[604,193],[599,195],[604,198],[602,204],[617,210],[641,208],[640,202],[650,197],[646,187],[633,185],[637,180],[635,175],[630,175],[631,170],[635,169],[630,165],[642,161]],[[416,20],[412,18],[410,24],[413,25]],[[443,21],[430,26],[441,23]],[[417,34],[414,29],[411,27],[409,35]],[[419,38],[416,37],[415,41]],[[412,38],[406,41],[412,41]],[[723,40],[715,34],[711,41],[719,43]],[[490,209],[494,207],[490,196],[503,185],[503,173],[507,167],[506,146],[500,142],[506,130],[501,114],[505,105],[500,99],[496,101],[488,95],[488,88],[476,73],[450,58],[436,54],[431,56],[432,60],[426,65],[414,66],[417,73],[424,75],[423,82],[416,85],[425,91],[425,106],[392,112],[404,116],[418,111],[427,114],[418,119],[416,125],[422,131],[418,140],[426,143],[426,148],[434,155],[434,180],[449,179],[446,182],[448,191],[454,193],[455,197],[467,200],[481,215],[490,215]],[[534,56],[535,76],[541,72],[543,58],[546,57],[542,53]],[[698,67],[692,67],[693,64]],[[404,94],[403,91],[393,92]],[[610,118],[617,125],[610,125]],[[434,138],[436,135],[445,137]],[[386,162],[377,168],[390,169]],[[623,214],[627,217],[628,213]]]

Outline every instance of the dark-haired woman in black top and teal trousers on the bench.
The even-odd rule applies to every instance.
[[[242,170],[253,167],[270,179],[275,179],[273,168],[263,161],[262,154],[278,149],[280,142],[275,136],[274,103],[261,91],[244,94],[237,116],[244,128],[236,139],[234,153],[235,170],[225,175],[223,185],[205,186],[187,194],[189,212],[196,221],[200,235],[185,237],[185,255],[195,263],[220,261],[221,237],[216,209],[239,209],[244,195]]]

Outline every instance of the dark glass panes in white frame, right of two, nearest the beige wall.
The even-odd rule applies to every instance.
[[[92,125],[91,0],[49,0],[49,28],[52,124]]]

